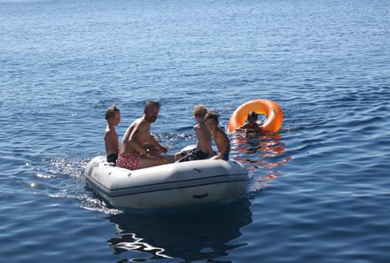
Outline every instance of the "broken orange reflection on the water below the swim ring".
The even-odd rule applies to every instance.
[[[264,188],[263,182],[282,176],[277,167],[292,159],[285,155],[285,143],[280,134],[235,133],[231,144],[234,159],[242,162],[252,171],[255,180],[261,182],[255,191]]]

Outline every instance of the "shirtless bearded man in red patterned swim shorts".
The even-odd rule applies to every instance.
[[[151,135],[152,122],[157,120],[159,112],[158,101],[146,102],[144,115],[135,120],[123,136],[120,156],[116,161],[117,166],[136,170],[168,163],[168,159],[160,156],[160,152],[166,153],[167,148],[161,146]],[[150,151],[151,146],[155,151]]]

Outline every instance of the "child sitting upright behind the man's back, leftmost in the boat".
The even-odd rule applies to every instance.
[[[115,126],[121,122],[120,110],[115,105],[107,108],[105,110],[105,120],[107,120],[107,126],[105,127],[105,153],[107,154],[107,162],[115,163],[119,153],[119,141]]]

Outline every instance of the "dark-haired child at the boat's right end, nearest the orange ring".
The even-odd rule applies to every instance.
[[[230,153],[230,141],[228,135],[218,127],[219,116],[216,112],[207,112],[205,116],[205,122],[208,130],[211,132],[214,138],[214,143],[218,148],[218,154],[212,159],[229,160]]]

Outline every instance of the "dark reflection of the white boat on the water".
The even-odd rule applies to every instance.
[[[116,225],[116,235],[108,243],[115,254],[140,251],[149,259],[189,262],[216,259],[246,245],[234,240],[241,236],[240,228],[252,222],[249,206],[249,200],[241,198],[180,210],[112,215],[109,220]]]

